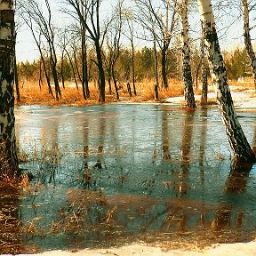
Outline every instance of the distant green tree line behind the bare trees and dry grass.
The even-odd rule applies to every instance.
[[[192,76],[194,81],[194,86],[196,85],[196,79],[198,81],[202,81],[202,71],[201,71],[201,61],[200,61],[200,49],[196,47],[191,51],[191,68],[192,68]],[[92,49],[92,58],[95,58],[95,53]],[[236,47],[234,50],[228,52],[223,51],[223,58],[225,62],[225,66],[227,69],[228,79],[232,81],[236,81],[241,77],[251,77],[252,70],[250,66],[250,60],[246,53],[245,48]],[[75,60],[77,55],[80,56],[80,52],[77,51],[76,54],[69,53],[68,56],[64,56],[61,62],[57,64],[57,74],[60,82],[74,82],[76,85],[82,83],[82,64],[79,60]],[[177,79],[180,80],[182,77],[181,74],[181,65],[180,65],[180,52],[168,52],[168,60],[167,60],[167,78],[168,79]],[[157,52],[157,61],[160,60],[160,52]],[[51,71],[51,66],[49,60],[46,61],[45,67],[48,72]],[[116,79],[119,83],[125,83],[130,81],[130,77],[132,74],[132,68],[134,68],[135,82],[143,82],[144,80],[154,80],[156,79],[156,72],[154,65],[156,64],[155,53],[153,48],[149,48],[148,46],[144,46],[142,49],[138,49],[134,52],[134,67],[132,66],[132,52],[129,48],[121,48],[121,53],[116,60]],[[89,60],[89,81],[97,81],[98,71],[97,67],[95,67],[94,62]],[[107,66],[104,66],[105,70],[107,70]],[[209,69],[208,67],[206,67]],[[35,82],[39,84],[39,87],[42,85],[42,80],[45,79],[44,73],[42,73],[42,60],[37,59],[32,62],[20,61],[17,63],[18,76],[20,77],[20,81],[28,81]],[[209,70],[207,70],[207,74],[209,75]],[[108,85],[111,87],[111,79],[112,76],[106,76],[106,80]],[[65,87],[65,85],[63,86]],[[110,91],[110,94],[112,90]]]

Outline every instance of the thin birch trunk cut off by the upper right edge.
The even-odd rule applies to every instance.
[[[242,8],[244,16],[244,44],[246,52],[251,60],[254,88],[256,90],[256,56],[255,52],[253,51],[252,39],[250,36],[249,4],[247,0],[242,0]]]

